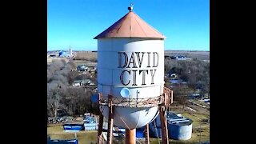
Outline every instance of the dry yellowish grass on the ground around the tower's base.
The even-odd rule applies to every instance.
[[[199,102],[199,101],[193,101]],[[206,103],[200,103],[202,105],[208,105]],[[189,106],[192,107],[190,104]],[[193,112],[190,110],[182,109],[181,105],[173,105],[171,109],[174,110],[176,113],[182,114],[182,116],[186,118],[190,118],[193,120],[192,123],[192,137],[186,141],[177,141],[170,139],[170,143],[174,144],[193,144],[199,142],[209,142],[210,141],[210,113],[209,110],[206,108],[202,108],[200,106],[194,105],[194,109],[197,109],[197,112]],[[204,111],[202,111],[204,110]],[[82,122],[82,120],[81,120]],[[79,123],[81,123],[79,121]],[[78,122],[75,122],[78,123]],[[98,131],[85,131],[82,130],[77,133],[78,143],[79,144],[95,144],[97,140],[97,133]],[[50,136],[51,139],[72,139],[75,138],[74,133],[72,132],[65,132],[63,130],[62,124],[49,124],[47,126],[47,134]],[[121,142],[120,142],[121,141]],[[162,139],[159,139],[160,143],[162,143]],[[124,139],[119,140],[113,138],[113,144],[124,143]],[[140,141],[137,143],[145,144],[145,142]],[[150,144],[158,144],[158,138],[150,138]]]

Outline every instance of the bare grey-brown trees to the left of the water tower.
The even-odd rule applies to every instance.
[[[47,67],[47,114],[57,117],[58,111],[64,111],[68,115],[79,115],[84,113],[97,113],[97,106],[90,101],[94,93],[93,87],[74,87],[72,83],[76,79],[90,78],[93,82],[97,77],[79,74],[73,71],[73,61],[65,62],[57,60]]]

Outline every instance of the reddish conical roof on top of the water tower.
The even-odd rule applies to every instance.
[[[112,26],[98,34],[98,38],[166,38],[154,27],[147,24],[132,10]]]

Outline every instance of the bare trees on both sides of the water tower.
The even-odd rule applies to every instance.
[[[51,117],[58,115],[58,110],[65,110],[71,116],[84,113],[99,114],[98,105],[90,101],[94,88],[73,87],[74,80],[90,78],[97,83],[97,73],[81,74],[75,69],[71,60],[56,60],[47,66],[47,113]],[[165,59],[165,74],[177,74],[178,79],[186,85],[172,87],[174,101],[185,104],[187,94],[200,89],[202,94],[210,96],[210,63],[198,59],[177,61]],[[170,78],[166,78],[166,86],[170,87]]]

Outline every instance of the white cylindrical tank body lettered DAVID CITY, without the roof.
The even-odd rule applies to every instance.
[[[163,41],[146,38],[115,38],[98,40],[98,92],[122,98],[154,98],[163,93]],[[102,107],[108,117],[107,106]],[[114,125],[130,129],[145,126],[158,114],[154,107],[115,107]]]

